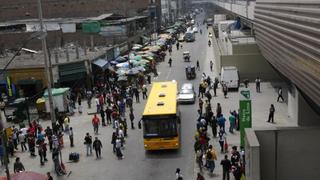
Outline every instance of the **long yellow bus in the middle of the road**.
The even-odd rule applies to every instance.
[[[179,149],[180,111],[175,81],[152,84],[142,122],[145,150]]]

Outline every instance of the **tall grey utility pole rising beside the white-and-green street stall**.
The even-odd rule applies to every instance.
[[[48,64],[48,59],[49,59],[48,48],[47,48],[47,42],[46,42],[46,31],[43,27],[41,0],[38,0],[38,13],[39,13],[40,29],[41,29],[41,32],[45,34],[45,36],[41,37],[41,43],[42,43],[42,51],[44,55],[44,64],[45,64],[47,86],[48,86],[47,90],[48,90],[50,117],[51,117],[52,128],[55,129],[56,117],[55,117],[53,98],[52,98],[51,78],[50,78],[50,70],[49,70],[49,64]]]

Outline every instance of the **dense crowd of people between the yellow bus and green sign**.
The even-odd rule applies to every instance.
[[[203,178],[201,173],[204,170],[214,175],[214,170],[217,166],[218,151],[220,150],[220,153],[225,154],[224,159],[220,162],[223,169],[223,180],[230,179],[230,173],[234,175],[236,180],[240,180],[244,173],[245,166],[243,148],[241,147],[239,152],[236,146],[231,147],[231,158],[229,160],[228,153],[230,147],[227,142],[227,131],[228,133],[234,133],[234,130],[239,130],[239,114],[237,111],[229,112],[229,128],[227,129],[227,120],[223,114],[221,104],[217,103],[215,107],[213,107],[212,104],[211,91],[213,90],[214,96],[217,96],[216,90],[218,84],[219,81],[217,79],[212,81],[209,76],[203,73],[199,85],[198,118],[194,143],[196,162],[200,170],[197,178]],[[224,96],[226,96],[225,93]],[[216,109],[215,113],[213,109]],[[210,128],[211,132],[209,132]],[[215,141],[219,142],[220,147],[215,146]]]

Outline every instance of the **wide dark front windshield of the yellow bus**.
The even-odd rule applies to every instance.
[[[144,137],[175,137],[178,136],[177,121],[171,118],[147,118],[143,120]]]

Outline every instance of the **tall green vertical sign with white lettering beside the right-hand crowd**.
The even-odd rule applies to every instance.
[[[252,127],[251,99],[249,90],[240,91],[240,146],[244,147],[245,128]]]

